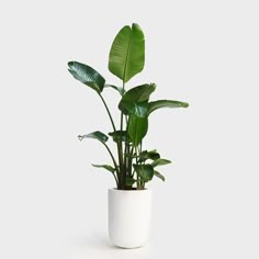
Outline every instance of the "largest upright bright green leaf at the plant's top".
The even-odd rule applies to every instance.
[[[115,36],[109,56],[109,70],[127,82],[145,64],[145,38],[139,25],[124,26]]]

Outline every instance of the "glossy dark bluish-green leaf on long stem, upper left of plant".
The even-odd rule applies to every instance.
[[[80,82],[87,85],[99,93],[103,90],[105,79],[92,67],[77,61],[68,63],[68,71]]]

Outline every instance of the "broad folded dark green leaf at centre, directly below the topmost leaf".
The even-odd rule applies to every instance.
[[[128,90],[119,103],[119,109],[126,115],[135,114],[146,116],[148,110],[148,99],[156,90],[155,83],[145,83]]]

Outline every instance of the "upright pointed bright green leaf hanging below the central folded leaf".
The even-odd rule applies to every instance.
[[[130,116],[127,131],[134,146],[137,146],[142,142],[147,134],[147,117],[138,117],[134,114]]]

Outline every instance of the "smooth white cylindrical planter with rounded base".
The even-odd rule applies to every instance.
[[[109,236],[123,248],[137,248],[149,239],[150,190],[109,190]]]

